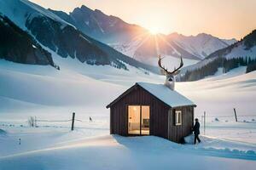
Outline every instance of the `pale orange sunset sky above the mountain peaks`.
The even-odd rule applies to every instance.
[[[82,4],[118,16],[153,33],[186,36],[205,32],[241,39],[256,29],[256,0],[32,0],[65,12]]]

